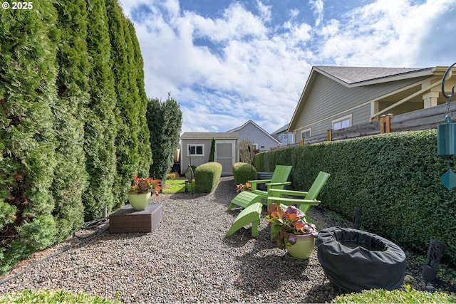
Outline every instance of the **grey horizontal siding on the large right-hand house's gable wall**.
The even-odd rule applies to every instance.
[[[347,88],[345,85],[318,73],[304,108],[296,122],[295,142],[301,141],[301,131],[311,129],[311,136],[321,135],[332,129],[332,121],[352,115],[352,125],[370,121],[371,104],[363,103],[394,92],[421,78],[398,80],[389,83]],[[394,102],[398,100],[393,100]]]

